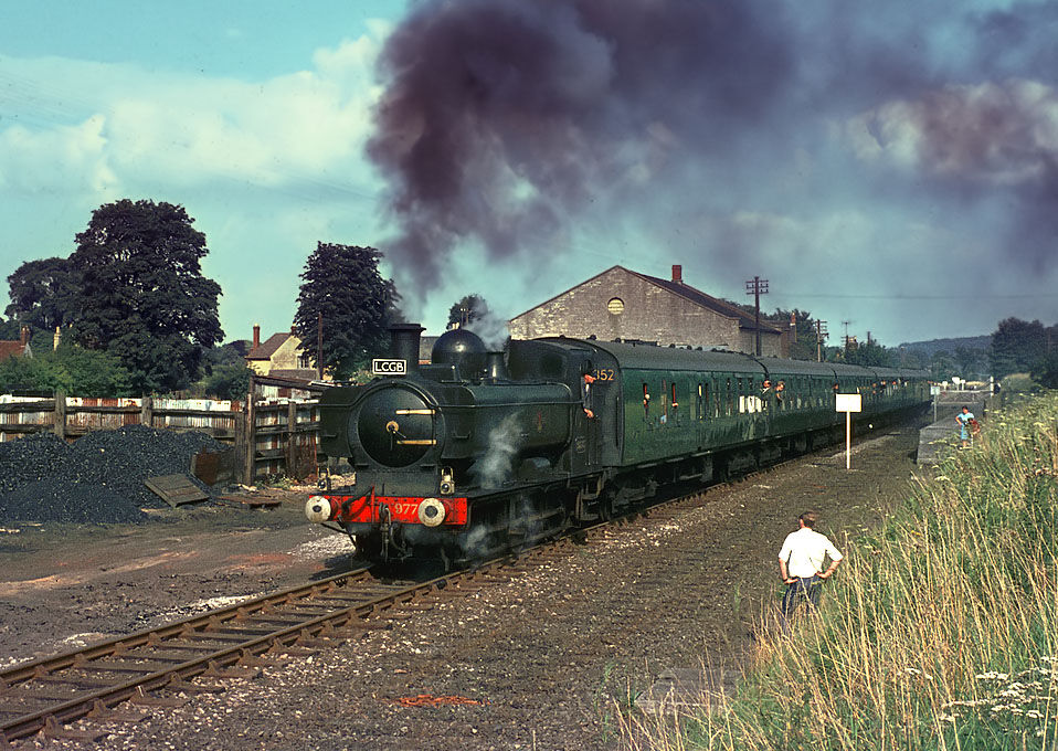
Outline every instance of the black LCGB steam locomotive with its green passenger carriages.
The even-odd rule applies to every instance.
[[[467,329],[419,364],[422,327],[391,330],[364,385],[320,399],[321,451],[352,482],[311,496],[369,560],[461,564],[832,443],[836,394],[858,423],[929,403],[928,373],[564,337],[487,351]],[[328,473],[328,477],[330,473]],[[348,477],[348,474],[346,475]]]

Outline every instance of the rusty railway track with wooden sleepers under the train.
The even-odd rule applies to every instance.
[[[783,464],[696,489],[473,570],[409,582],[383,581],[363,568],[6,668],[0,670],[0,749],[36,733],[100,740],[108,723],[137,722],[152,710],[181,706],[192,695],[221,692],[225,679],[255,677],[263,667],[337,646],[436,602],[563,560],[586,541],[605,538],[614,526],[642,518],[664,523],[701,504],[707,493],[723,493]],[[70,727],[78,720],[86,722]]]

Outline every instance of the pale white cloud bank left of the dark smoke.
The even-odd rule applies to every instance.
[[[6,59],[33,94],[4,102],[13,117],[0,123],[0,189],[186,188],[218,179],[274,187],[325,170],[339,181],[367,179],[360,155],[379,94],[369,84],[378,50],[364,35],[318,51],[315,70],[261,83]],[[11,121],[25,125],[3,127]],[[23,170],[32,181],[13,179]]]

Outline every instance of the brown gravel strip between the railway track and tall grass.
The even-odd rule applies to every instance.
[[[857,536],[906,497],[916,446],[916,431],[893,431],[854,447],[850,472],[834,448],[715,488],[670,520],[618,527],[508,583],[115,727],[95,748],[622,748],[614,717],[659,673],[737,665],[752,650],[797,514],[819,510],[846,556],[869,556]],[[827,586],[842,586],[840,572]]]

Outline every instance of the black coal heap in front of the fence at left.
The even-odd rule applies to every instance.
[[[166,507],[145,479],[188,474],[193,454],[224,448],[205,433],[142,425],[88,433],[73,444],[50,433],[0,443],[0,523],[145,521],[140,509]]]

